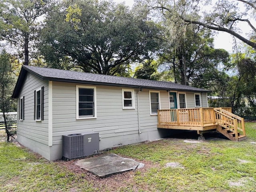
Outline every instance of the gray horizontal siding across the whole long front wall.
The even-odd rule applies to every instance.
[[[83,84],[81,84],[83,85]],[[90,86],[90,85],[86,85]],[[125,88],[125,87],[123,87]],[[62,144],[62,135],[81,132],[99,132],[102,140],[138,135],[137,92],[134,90],[135,109],[122,109],[122,87],[96,86],[97,118],[76,119],[76,84],[53,82],[52,132],[53,145]],[[150,115],[148,89],[139,92],[140,131],[157,131],[157,115]],[[194,92],[186,92],[187,107],[194,108]],[[169,95],[160,90],[160,108],[168,109]],[[117,141],[117,139],[116,139]],[[103,142],[102,142],[103,143]],[[109,144],[118,146],[119,142]],[[102,145],[104,149],[106,145]]]

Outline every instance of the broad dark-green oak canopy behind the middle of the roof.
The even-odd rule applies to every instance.
[[[124,4],[70,1],[56,7],[45,22],[40,51],[53,67],[114,75],[150,58],[160,44],[160,28],[148,19],[147,10]]]

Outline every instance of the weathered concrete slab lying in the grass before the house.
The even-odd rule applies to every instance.
[[[97,157],[81,159],[76,162],[80,166],[98,177],[107,177],[113,174],[135,170],[144,164],[133,159],[123,158],[117,154],[104,154]]]

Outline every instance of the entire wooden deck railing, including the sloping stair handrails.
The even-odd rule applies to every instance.
[[[239,135],[245,136],[244,118],[232,114],[230,107],[158,110],[158,124],[174,126],[219,125],[234,133],[236,140],[238,140]]]

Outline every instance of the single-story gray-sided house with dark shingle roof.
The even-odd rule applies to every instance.
[[[160,109],[208,107],[208,90],[175,84],[22,66],[17,139],[48,160],[62,158],[62,135],[98,132],[100,150],[168,136]]]

